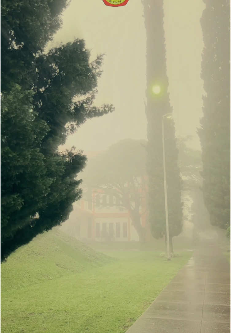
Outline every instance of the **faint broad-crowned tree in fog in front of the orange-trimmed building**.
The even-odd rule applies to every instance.
[[[84,184],[103,188],[118,198],[117,205],[125,207],[141,241],[145,229],[141,225],[141,203],[146,191],[146,142],[126,139],[112,145],[88,161],[83,173]]]

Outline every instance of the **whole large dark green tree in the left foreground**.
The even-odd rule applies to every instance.
[[[86,119],[114,110],[92,106],[102,55],[90,63],[78,39],[44,53],[66,3],[1,3],[1,260],[68,218],[86,158],[58,146]]]

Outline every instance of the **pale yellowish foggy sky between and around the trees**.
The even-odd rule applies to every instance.
[[[196,128],[202,115],[203,9],[202,0],[164,1],[167,74],[176,136],[193,135],[196,149],[200,148]],[[146,31],[141,0],[130,0],[123,7],[108,7],[102,0],[72,0],[51,46],[75,38],[85,40],[92,60],[105,53],[95,105],[112,103],[116,111],[88,120],[67,139],[66,147],[102,151],[125,138],[147,139]]]

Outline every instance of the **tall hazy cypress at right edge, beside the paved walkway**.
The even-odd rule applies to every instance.
[[[230,2],[204,0],[202,147],[203,195],[212,225],[230,226]]]

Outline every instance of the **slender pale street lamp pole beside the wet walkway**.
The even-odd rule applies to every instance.
[[[166,220],[166,233],[167,233],[167,258],[170,258],[169,251],[169,215],[168,215],[168,199],[167,199],[167,183],[166,183],[166,165],[165,165],[165,132],[164,132],[164,119],[172,118],[172,113],[166,113],[162,116],[162,148],[163,148],[163,169],[164,169],[164,187],[165,187],[165,220]]]

